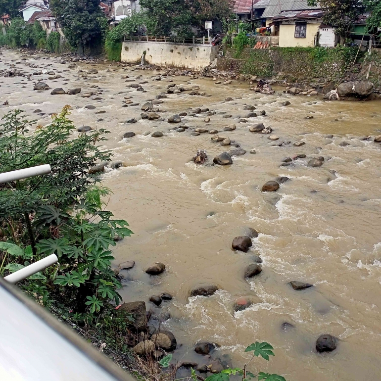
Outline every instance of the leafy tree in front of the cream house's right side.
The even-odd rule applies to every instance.
[[[323,23],[336,27],[335,33],[340,37],[340,44],[345,44],[346,34],[350,31],[358,16],[363,13],[364,6],[359,0],[308,0],[308,5],[319,3],[324,12]]]

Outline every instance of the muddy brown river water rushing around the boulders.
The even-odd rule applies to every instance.
[[[132,70],[116,65],[107,72],[108,64],[78,63],[74,69],[60,64],[59,58],[27,55],[5,50],[0,56],[0,69],[16,64],[27,73],[48,68],[62,75],[48,80],[51,88],[65,90],[98,85],[102,100],[81,95],[50,95],[50,91],[33,91],[33,82],[24,77],[0,78],[0,115],[21,107],[37,117],[38,123],[49,123],[48,113],[72,105],[71,118],[77,126],[107,128],[111,134],[105,148],[112,149],[115,160],[126,167],[108,170],[104,185],[113,194],[107,208],[117,218],[126,219],[134,236],[118,242],[115,263],[136,261],[125,280],[121,294],[124,301],[144,300],[147,309],[160,314],[169,311],[172,318],[163,326],[173,332],[179,345],[174,359],[199,360],[193,345],[200,340],[221,344],[219,356],[233,366],[242,366],[250,356],[244,348],[255,341],[268,341],[275,348],[270,362],[255,359],[252,371],[279,373],[286,380],[381,380],[381,150],[377,143],[355,137],[379,135],[381,103],[326,102],[312,96],[290,96],[277,89],[275,95],[253,94],[247,84],[233,82],[216,85],[211,79],[171,77],[173,83],[191,83],[211,96],[169,95],[160,104],[165,121],[139,120],[140,106],[122,108],[123,97],[143,104],[165,91],[168,78],[152,81],[154,71]],[[41,59],[34,59],[41,57]],[[14,62],[11,62],[14,60]],[[51,64],[51,66],[46,66]],[[97,68],[98,74],[78,79],[77,71]],[[148,81],[146,93],[127,89],[122,75]],[[31,79],[46,79],[35,75]],[[92,78],[94,77],[94,78]],[[124,92],[123,94],[119,94]],[[225,102],[228,96],[235,98]],[[280,103],[289,100],[289,106]],[[94,110],[83,108],[94,104]],[[222,132],[247,150],[234,157],[231,166],[198,166],[190,159],[198,148],[206,149],[209,160],[226,150],[210,142],[211,135],[191,136],[189,131],[169,131],[166,122],[172,114],[188,107],[208,107],[233,116],[244,115],[244,105],[265,110],[266,116],[251,118],[250,123],[238,119],[211,116],[205,124],[204,114],[183,118],[190,127],[222,128],[237,123],[232,132]],[[75,108],[77,107],[77,108]],[[45,115],[33,110],[40,108]],[[104,110],[105,113],[96,114]],[[312,115],[313,119],[304,119]],[[102,121],[97,122],[99,118]],[[281,140],[305,144],[295,147],[270,146],[266,135],[248,131],[252,123],[271,126]],[[123,133],[134,131],[132,139],[121,140]],[[162,131],[164,137],[143,136],[144,131]],[[333,134],[333,139],[324,138]],[[348,146],[339,146],[346,141]],[[249,151],[255,148],[256,154]],[[303,153],[288,167],[280,167],[285,156]],[[307,167],[308,158],[324,156],[322,167]],[[336,171],[333,176],[330,170]],[[262,185],[278,176],[290,181],[279,191],[262,193]],[[247,253],[231,248],[234,237],[248,227],[260,232]],[[262,273],[246,281],[245,267],[252,255],[263,259]],[[144,269],[163,262],[165,272],[149,277]],[[287,283],[307,281],[313,288],[295,291]],[[191,288],[199,284],[216,284],[220,290],[211,297],[189,297]],[[174,296],[156,308],[149,297],[161,292]],[[247,310],[233,313],[232,306],[240,296],[255,303]],[[281,325],[295,326],[283,332]],[[316,353],[316,338],[331,333],[339,338],[337,349],[325,355]]]

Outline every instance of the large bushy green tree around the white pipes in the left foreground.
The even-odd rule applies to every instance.
[[[0,274],[55,253],[59,265],[29,279],[24,290],[44,304],[62,304],[67,311],[92,316],[108,301],[120,301],[120,283],[111,270],[109,248],[115,237],[132,234],[124,220],[113,220],[103,210],[101,197],[110,193],[98,185],[89,169],[109,160],[110,151],[97,143],[105,130],[73,138],[67,118],[70,106],[52,116],[47,126],[37,126],[10,111],[0,125],[0,172],[50,164],[50,174],[0,185]],[[89,173],[90,172],[90,173]],[[4,240],[5,241],[1,241]]]

